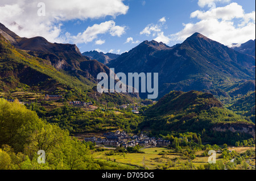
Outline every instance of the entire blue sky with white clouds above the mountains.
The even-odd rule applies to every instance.
[[[46,3],[44,17],[35,15],[38,2]],[[96,49],[120,54],[153,39],[172,46],[193,32],[229,46],[255,39],[253,0],[71,2],[2,0],[0,22],[20,36],[77,44],[81,52]]]

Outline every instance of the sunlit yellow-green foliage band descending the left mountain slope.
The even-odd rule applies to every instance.
[[[83,82],[81,82],[76,77],[69,76],[62,71],[56,70],[51,65],[51,62],[33,57],[22,50],[14,48],[6,41],[7,40],[0,36],[0,73],[1,71],[3,71],[3,73],[8,73],[10,71],[10,73],[13,74],[20,71],[24,66],[28,66],[32,70],[37,71],[38,76],[42,74],[47,75],[49,78],[69,87],[89,89],[90,86],[93,86],[93,83],[89,82],[87,79],[84,78]],[[15,81],[18,81],[19,78],[17,77],[15,79],[17,79]]]

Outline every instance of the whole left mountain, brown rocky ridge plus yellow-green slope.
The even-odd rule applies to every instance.
[[[114,94],[105,95],[105,99],[101,95],[94,96],[98,94],[94,89],[98,73],[109,74],[110,69],[97,60],[86,59],[76,45],[50,43],[44,37],[19,37],[1,23],[0,40],[2,90],[29,86],[54,91],[61,87],[94,92],[90,96],[103,102],[108,99],[115,103],[130,103],[134,96],[138,98],[138,94],[122,94],[117,100]]]

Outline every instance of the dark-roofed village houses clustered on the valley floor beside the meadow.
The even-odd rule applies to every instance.
[[[96,145],[105,146],[123,146],[123,148],[134,147],[136,145],[144,147],[160,147],[168,146],[171,144],[168,140],[163,140],[162,138],[156,139],[155,137],[147,137],[141,134],[141,136],[128,136],[126,132],[109,132],[103,134],[104,138],[88,137],[85,138],[86,142],[93,142]]]

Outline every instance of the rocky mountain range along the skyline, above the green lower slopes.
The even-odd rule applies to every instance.
[[[218,90],[223,94],[224,87],[255,80],[255,57],[250,55],[253,49],[255,52],[255,41],[232,49],[194,33],[173,47],[143,41],[118,55],[95,50],[81,53],[76,45],[50,43],[43,37],[19,37],[1,23],[0,34],[16,49],[89,87],[96,86],[98,73],[109,74],[109,68],[125,74],[158,73],[158,99],[172,90]],[[146,95],[140,94],[142,98]]]

